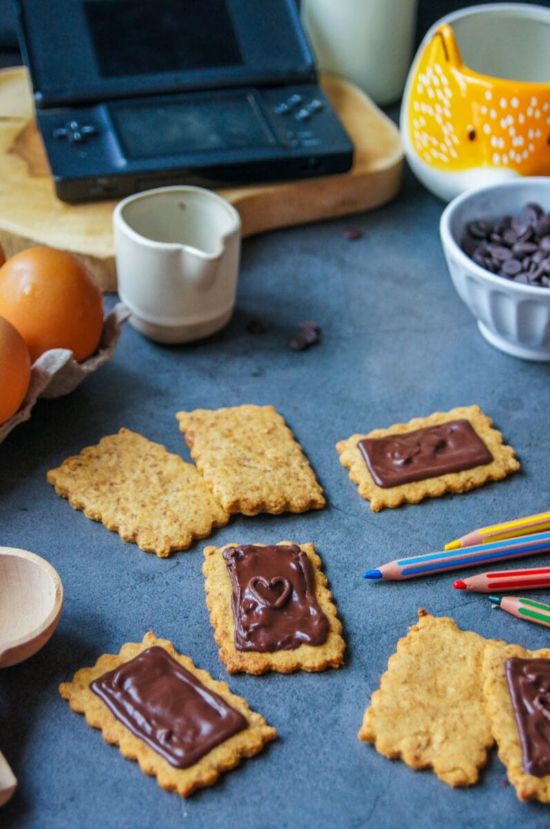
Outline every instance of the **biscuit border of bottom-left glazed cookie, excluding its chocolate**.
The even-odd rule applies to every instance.
[[[129,662],[153,646],[164,648],[176,662],[196,676],[204,686],[215,691],[248,722],[244,730],[210,749],[208,754],[188,768],[175,768],[168,763],[161,754],[123,725],[104,701],[89,688],[90,682],[99,676],[123,665],[124,662]],[[118,654],[104,654],[99,657],[94,667],[81,668],[75,673],[73,680],[63,682],[59,690],[60,695],[69,701],[72,710],[84,714],[88,725],[102,731],[107,743],[118,745],[124,757],[137,760],[142,771],[156,777],[162,788],[168,792],[177,792],[181,797],[187,797],[196,788],[212,785],[220,773],[234,768],[243,757],[258,754],[258,751],[277,735],[277,731],[267,725],[261,715],[248,708],[242,697],[229,691],[226,682],[212,679],[207,671],[195,667],[189,657],[176,652],[171,642],[157,639],[154,633],[147,633],[142,642],[127,642]]]

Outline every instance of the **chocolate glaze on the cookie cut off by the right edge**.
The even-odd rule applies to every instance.
[[[550,659],[509,659],[506,679],[519,739],[523,768],[535,777],[550,774]]]

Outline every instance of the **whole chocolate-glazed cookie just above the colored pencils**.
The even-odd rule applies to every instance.
[[[468,492],[518,470],[514,449],[492,423],[479,406],[459,406],[352,434],[336,449],[359,495],[379,511],[445,492]]]

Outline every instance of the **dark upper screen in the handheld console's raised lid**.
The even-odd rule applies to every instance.
[[[85,0],[99,74],[243,65],[224,0]]]

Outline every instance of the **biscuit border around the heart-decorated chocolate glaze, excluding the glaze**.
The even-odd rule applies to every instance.
[[[280,541],[277,546],[292,545],[292,541]],[[232,610],[233,589],[224,560],[224,550],[239,547],[226,544],[223,547],[206,547],[205,574],[206,606],[210,611],[210,622],[214,638],[220,648],[220,659],[228,673],[244,671],[261,674],[264,671],[324,671],[328,667],[340,667],[343,662],[345,642],[341,637],[342,625],[332,594],[327,587],[326,576],[321,570],[321,559],[312,544],[302,544],[300,550],[306,553],[315,577],[315,598],[328,620],[326,641],[321,645],[302,643],[292,650],[273,652],[239,651],[234,645],[234,615]],[[264,545],[257,545],[264,546]]]

